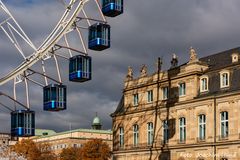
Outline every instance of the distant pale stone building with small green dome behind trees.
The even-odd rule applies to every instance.
[[[100,118],[96,115],[92,121],[92,129],[74,129],[65,132],[37,129],[36,135],[31,137],[36,143],[48,143],[50,150],[59,155],[64,148],[82,147],[93,139],[101,139],[112,149],[112,131],[103,130]]]

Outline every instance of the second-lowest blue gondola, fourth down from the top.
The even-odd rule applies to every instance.
[[[67,87],[65,85],[50,84],[43,87],[43,110],[60,111],[67,108]]]

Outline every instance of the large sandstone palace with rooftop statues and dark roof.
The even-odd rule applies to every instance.
[[[133,77],[113,119],[116,160],[239,160],[240,48]]]

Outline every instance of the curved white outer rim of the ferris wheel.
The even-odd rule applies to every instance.
[[[34,52],[31,56],[29,56],[20,66],[15,68],[12,72],[7,74],[5,77],[1,78],[0,85],[7,83],[8,81],[15,78],[19,74],[23,74],[25,70],[27,70],[29,67],[34,65],[37,61],[41,60],[42,57],[46,53],[48,53],[51,50],[51,48],[54,47],[54,45],[62,38],[62,36],[64,36],[64,34],[72,27],[72,24],[74,23],[77,15],[80,13],[84,4],[87,1],[88,0],[79,0],[79,3],[76,9],[73,11],[70,18],[66,20],[70,12],[70,9],[72,7],[68,8],[67,11],[65,11],[65,14],[61,18],[61,20],[59,21],[58,23],[59,25],[56,26],[54,31],[50,34],[49,37],[47,37],[47,39],[43,42],[41,47],[36,52]],[[76,2],[77,0],[72,0],[70,4],[75,4]],[[0,1],[0,3],[2,2]],[[63,23],[63,22],[66,22],[66,23]]]

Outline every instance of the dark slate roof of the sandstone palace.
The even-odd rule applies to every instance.
[[[226,92],[232,92],[236,90],[240,90],[240,83],[239,83],[239,77],[240,77],[240,68],[235,67],[236,65],[240,64],[240,59],[236,63],[232,63],[232,54],[238,53],[240,56],[240,47],[229,49],[223,52],[219,52],[216,54],[212,54],[206,57],[202,57],[199,59],[199,62],[203,64],[207,64],[209,69],[206,70],[205,73],[209,77],[209,92],[206,94],[199,94],[198,97],[202,96],[209,96],[209,95],[216,95],[216,94],[222,94]],[[179,69],[182,66],[187,65],[188,63],[183,63],[175,68],[170,68],[168,70],[176,70]],[[231,69],[230,74],[230,87],[228,89],[221,89],[220,88],[220,77],[219,77],[219,70],[229,67]],[[124,112],[124,95],[122,95],[121,100],[115,110],[114,113],[111,114],[112,117],[116,116],[116,114],[121,114]]]

